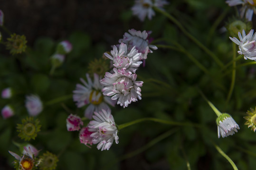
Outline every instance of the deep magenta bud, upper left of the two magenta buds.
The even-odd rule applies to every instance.
[[[66,128],[67,131],[78,131],[80,126],[83,126],[84,123],[79,116],[70,114],[66,119]]]

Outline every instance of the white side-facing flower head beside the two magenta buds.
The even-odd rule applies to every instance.
[[[88,124],[93,144],[98,144],[97,149],[109,150],[114,140],[118,144],[117,128],[110,110],[94,112],[93,119]]]

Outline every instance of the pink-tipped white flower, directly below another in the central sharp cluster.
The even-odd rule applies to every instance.
[[[136,102],[141,98],[141,88],[143,82],[136,81],[137,75],[125,71],[125,69],[113,69],[114,74],[106,72],[105,78],[100,80],[105,87],[102,92],[106,96],[112,96],[112,100],[118,100],[117,104],[127,107],[131,102]]]

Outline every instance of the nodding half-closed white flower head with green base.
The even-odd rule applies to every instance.
[[[224,138],[229,135],[234,135],[237,129],[240,129],[236,121],[228,113],[221,114],[216,119],[216,123],[218,125],[218,138],[220,138],[220,136]]]

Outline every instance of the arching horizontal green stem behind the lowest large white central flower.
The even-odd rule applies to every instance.
[[[168,124],[168,125],[177,125],[177,126],[195,126],[199,127],[199,124],[194,124],[194,123],[189,123],[189,122],[175,122],[175,121],[168,121],[168,120],[162,120],[162,119],[156,119],[156,118],[142,118],[142,119],[137,119],[133,120],[131,122],[123,123],[122,125],[118,126],[118,129],[121,130],[124,127],[131,126],[136,123],[140,123],[143,121],[154,121],[158,123],[163,123],[163,124]]]

